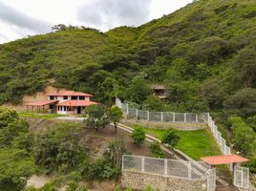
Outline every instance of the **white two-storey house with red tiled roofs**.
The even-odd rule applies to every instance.
[[[31,109],[32,112],[36,111],[37,113],[80,115],[84,113],[87,106],[97,104],[90,100],[92,95],[75,91],[62,91],[46,96],[48,100],[25,103],[27,111]]]

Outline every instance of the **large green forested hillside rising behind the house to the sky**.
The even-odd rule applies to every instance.
[[[0,101],[19,103],[55,79],[54,86],[101,102],[120,96],[141,103],[150,93],[139,83],[162,83],[170,110],[224,109],[250,117],[256,112],[255,23],[255,0],[200,0],[138,28],[62,26],[3,44]]]

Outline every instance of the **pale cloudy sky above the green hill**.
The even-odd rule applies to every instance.
[[[0,44],[52,32],[57,24],[106,32],[139,26],[179,10],[192,0],[0,0]]]

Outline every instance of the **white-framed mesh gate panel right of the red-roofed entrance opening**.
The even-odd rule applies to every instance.
[[[249,169],[236,166],[234,169],[234,185],[237,187],[249,188]]]

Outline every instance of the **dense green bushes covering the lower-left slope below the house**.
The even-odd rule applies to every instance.
[[[0,191],[22,191],[36,173],[54,174],[59,180],[29,191],[58,190],[65,184],[73,190],[74,181],[117,178],[126,152],[124,138],[110,142],[102,156],[92,159],[81,142],[81,131],[76,123],[61,122],[32,134],[29,123],[14,110],[0,107]]]

